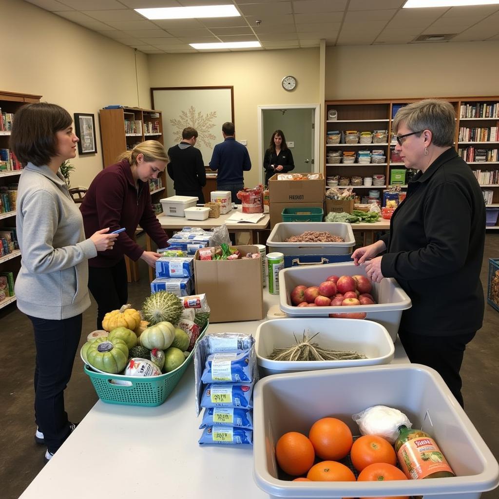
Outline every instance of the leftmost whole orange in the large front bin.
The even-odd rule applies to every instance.
[[[275,446],[275,459],[284,473],[294,477],[304,475],[315,460],[313,445],[301,433],[285,433]]]

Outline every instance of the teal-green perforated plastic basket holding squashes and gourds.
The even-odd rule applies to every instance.
[[[100,400],[107,404],[138,405],[153,407],[161,405],[182,378],[192,362],[198,341],[204,336],[205,326],[185,362],[174,371],[160,376],[136,377],[123,374],[101,374],[86,364],[83,371],[90,378]],[[119,383],[119,384],[118,384]]]

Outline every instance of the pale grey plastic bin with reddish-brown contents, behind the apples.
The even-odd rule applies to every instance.
[[[288,243],[291,236],[299,236],[305,231],[329,232],[344,239],[344,243]],[[348,254],[355,246],[352,226],[343,222],[294,222],[275,224],[267,238],[268,251],[283,254]],[[329,274],[328,274],[329,275]]]

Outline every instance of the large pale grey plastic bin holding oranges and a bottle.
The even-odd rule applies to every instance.
[[[499,466],[440,375],[420,364],[352,367],[270,376],[253,391],[253,477],[270,498],[479,499],[499,485]],[[332,416],[353,435],[351,416],[374,405],[395,407],[435,438],[456,477],[384,482],[288,482],[279,480],[274,448],[286,432],[305,435]]]

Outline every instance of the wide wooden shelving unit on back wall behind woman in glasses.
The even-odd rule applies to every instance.
[[[449,101],[456,111],[456,136],[454,147],[458,151],[459,149],[466,149],[467,147],[475,147],[476,149],[499,149],[499,141],[459,141],[459,130],[460,127],[466,128],[499,128],[499,117],[487,117],[487,118],[477,118],[477,117],[466,117],[461,118],[461,108],[462,106],[480,106],[480,104],[494,105],[499,103],[499,96],[486,96],[486,97],[443,97],[445,100]],[[392,152],[396,145],[394,141],[391,140],[392,137],[392,122],[396,111],[403,105],[409,104],[411,102],[416,102],[420,98],[410,98],[410,99],[373,99],[373,100],[329,100],[325,102],[325,115],[328,116],[328,112],[332,109],[337,112],[337,120],[327,120],[325,121],[325,133],[324,136],[327,139],[327,132],[338,130],[340,132],[345,132],[347,130],[357,130],[359,133],[363,131],[374,131],[374,130],[387,130],[388,131],[388,141],[386,143],[380,144],[325,144],[325,158],[324,158],[324,177],[327,178],[331,175],[339,175],[344,177],[352,176],[372,176],[372,175],[385,175],[386,184],[388,187],[396,187],[390,184],[390,174],[392,168],[404,169],[405,165],[403,162],[391,161]],[[383,149],[386,155],[386,163],[328,163],[327,162],[327,152],[330,150],[341,149],[345,150],[359,150],[359,149]],[[470,161],[468,162],[472,170],[498,170],[499,171],[499,159],[498,161]],[[499,181],[498,181],[499,182]],[[348,187],[348,186],[347,186]],[[402,189],[406,189],[407,185],[399,186]],[[499,183],[498,184],[481,184],[481,187],[493,190],[492,203],[486,205],[488,208],[499,207]],[[386,188],[386,186],[384,187]],[[354,187],[355,190],[366,189],[366,186]],[[382,186],[369,186],[369,189],[379,189],[382,190]],[[364,191],[360,191],[359,195],[364,195]],[[499,229],[499,225],[492,227]],[[488,227],[491,229],[491,227]]]

